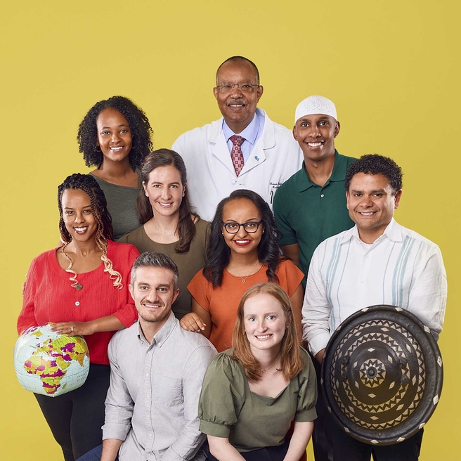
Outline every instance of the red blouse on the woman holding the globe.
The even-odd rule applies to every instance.
[[[88,322],[113,315],[126,327],[138,318],[128,291],[130,271],[139,252],[134,245],[108,242],[108,258],[122,275],[123,287],[117,290],[104,264],[93,271],[77,274],[82,290],[75,290],[67,273],[56,258],[58,248],[40,254],[32,261],[24,290],[18,334],[29,327],[48,322]],[[115,332],[98,332],[85,336],[91,363],[109,365],[108,345]]]

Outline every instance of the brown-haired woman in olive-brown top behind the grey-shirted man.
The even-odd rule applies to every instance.
[[[187,285],[205,265],[209,222],[190,211],[186,165],[169,149],[150,152],[141,166],[143,190],[136,202],[142,226],[119,242],[131,243],[139,252],[167,254],[178,266],[179,294],[171,306],[181,319],[191,309]]]

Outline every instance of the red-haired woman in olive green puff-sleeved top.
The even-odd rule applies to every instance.
[[[200,396],[210,459],[298,461],[316,418],[316,373],[283,288],[258,283],[245,292],[232,344],[210,363]]]

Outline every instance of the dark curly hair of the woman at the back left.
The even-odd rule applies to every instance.
[[[151,136],[152,128],[149,119],[138,106],[129,98],[124,96],[112,96],[112,98],[100,100],[85,115],[79,125],[77,141],[79,152],[83,153],[83,158],[87,167],[100,167],[103,164],[103,153],[96,150],[98,141],[98,130],[96,129],[96,119],[100,112],[106,108],[117,109],[128,121],[131,130],[133,145],[129,152],[129,162],[133,171],[139,167],[144,157],[152,150]]]

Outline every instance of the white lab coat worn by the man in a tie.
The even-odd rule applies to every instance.
[[[223,119],[181,134],[172,149],[183,157],[190,204],[202,219],[212,221],[216,205],[233,190],[250,189],[271,205],[273,196],[303,161],[292,132],[273,122],[264,110],[264,129],[240,175],[235,174],[224,137]]]

